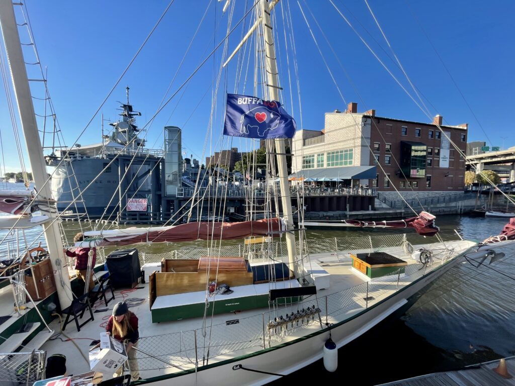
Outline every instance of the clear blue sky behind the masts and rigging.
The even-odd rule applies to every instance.
[[[138,124],[143,127],[159,107],[208,4],[211,5],[205,21],[171,86],[171,91],[177,90],[197,64],[205,58],[207,52],[213,49],[215,42],[218,43],[225,36],[228,15],[221,16],[224,2],[175,0],[138,59],[102,107],[101,112],[104,113],[104,117],[110,118],[111,121],[116,119],[116,109],[119,104],[117,101],[126,99],[125,86],[129,85],[130,100],[135,110],[142,112],[142,117],[138,118]],[[60,127],[66,144],[71,145],[122,74],[168,2],[27,0],[26,3],[41,62],[48,69],[48,87]],[[283,12],[289,4],[293,20],[302,125],[305,129],[320,130],[323,128],[324,113],[335,109],[345,110],[345,104],[320,58],[297,2],[282,0],[281,4]],[[373,108],[380,116],[422,122],[430,120],[373,58],[329,1],[308,2],[357,87],[361,96],[359,97],[324,42],[304,1],[301,0],[300,4],[347,102],[358,102],[358,111]],[[335,0],[335,4],[349,17],[364,39],[402,83],[409,87],[402,73],[386,56],[385,51],[392,57],[366,4],[361,1],[342,2],[340,0]],[[512,49],[515,34],[513,22],[509,17],[515,12],[515,2],[369,0],[369,4],[408,75],[426,97],[425,102],[431,103],[427,106],[432,116],[443,115],[444,123],[448,125],[468,122],[470,124],[469,141],[487,140],[424,36],[421,27],[465,95],[480,125],[487,132],[492,141],[489,145],[504,146],[504,148],[515,145],[515,134],[513,134],[513,124],[510,119],[513,111],[512,95],[515,89],[512,73],[515,68],[515,54]],[[243,0],[237,2],[233,24],[243,16],[244,5]],[[280,15],[279,6],[275,11]],[[413,14],[416,15],[416,19]],[[18,15],[20,15],[19,12]],[[18,21],[21,23],[21,19]],[[215,23],[219,27],[216,32]],[[247,21],[245,29],[248,28],[248,23]],[[279,17],[275,30],[280,33],[281,38],[284,38],[282,17]],[[234,36],[229,40],[230,51],[239,42],[241,34],[241,28],[236,29]],[[27,39],[22,37],[22,41],[27,42]],[[285,89],[283,102],[289,111],[293,111],[300,128],[298,89],[296,81],[292,81],[294,101],[290,101],[285,48],[284,43],[279,44],[281,85]],[[35,61],[30,48],[24,48],[24,52],[27,62]],[[182,142],[186,154],[189,156],[193,153],[195,157],[201,158],[211,113],[211,98],[214,93],[212,82],[216,78],[215,74],[221,58],[222,49],[220,48],[215,57],[210,59],[188,84],[182,98],[179,93],[153,122],[148,131],[148,147],[161,147],[163,126],[175,125],[183,128]],[[294,79],[293,61],[290,52],[292,80]],[[227,80],[228,92],[243,91],[241,86],[237,90],[234,87],[235,81],[232,74],[236,66],[236,61],[233,61],[229,66],[227,77],[224,73],[218,95],[225,92],[225,80]],[[253,70],[250,69],[249,74],[252,72]],[[252,94],[248,84],[245,92],[248,95]],[[38,85],[33,87],[33,95],[44,96]],[[227,139],[224,144],[217,145],[217,138],[222,131],[223,107],[219,97],[213,135],[210,139],[211,148],[208,145],[208,152],[220,146],[224,148],[230,146]],[[43,108],[41,102],[36,104],[37,113],[43,114]],[[20,170],[3,92],[0,93],[0,129],[3,136],[6,169]],[[41,121],[40,129],[42,129]],[[86,145],[100,142],[100,135],[101,119],[98,114],[78,143]],[[248,147],[239,140],[234,140],[232,146],[239,147],[241,150],[246,150]]]

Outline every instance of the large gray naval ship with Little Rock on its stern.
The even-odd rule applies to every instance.
[[[58,212],[117,220],[126,212],[129,200],[146,199],[145,213],[150,217],[154,217],[152,212],[161,215],[163,150],[144,148],[145,139],[138,137],[141,130],[134,117],[141,113],[133,111],[129,103],[129,87],[127,103],[121,104],[121,110],[121,119],[110,124],[113,130],[102,136],[101,143],[76,144],[46,157],[47,165],[56,167],[52,191]],[[175,129],[180,149],[180,129]],[[177,167],[172,167],[177,172],[180,161],[179,153]],[[169,174],[171,178],[173,171]]]

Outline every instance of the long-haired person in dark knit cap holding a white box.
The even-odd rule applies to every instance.
[[[138,360],[136,360],[136,350],[133,348],[138,347],[138,339],[140,339],[138,317],[129,311],[127,303],[118,302],[114,305],[113,314],[109,317],[106,331],[119,342],[127,340],[126,350],[131,377],[133,380],[141,379]],[[120,366],[115,375],[121,376],[122,369],[123,367]]]

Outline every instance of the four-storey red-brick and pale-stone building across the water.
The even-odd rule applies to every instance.
[[[462,191],[465,160],[437,124],[465,153],[468,124],[443,126],[439,115],[430,124],[379,117],[375,110],[357,113],[357,103],[349,103],[343,113],[325,114],[323,130],[297,131],[293,168],[307,174],[310,169],[375,165],[375,179],[352,182],[380,191],[394,191],[393,186],[401,192]]]

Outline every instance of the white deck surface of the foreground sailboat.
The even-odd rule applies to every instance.
[[[448,248],[453,247],[457,250],[462,250],[466,246],[471,244],[472,242],[470,241],[453,241],[446,243]],[[355,252],[359,251],[353,251],[353,253]],[[410,267],[410,264],[413,264],[415,262],[414,260],[410,259],[410,257],[405,256],[401,248],[388,250],[387,252],[407,261],[407,268]],[[328,300],[326,300],[325,302],[329,303],[329,308],[338,307],[338,303],[341,303],[344,300],[340,299],[341,296],[339,294],[335,294],[340,291],[349,290],[350,288],[355,287],[356,289],[351,290],[351,292],[347,294],[348,296],[346,295],[347,297],[345,299],[345,302],[347,303],[345,305],[345,308],[342,308],[341,311],[338,312],[331,312],[331,314],[328,316],[328,321],[335,323],[341,320],[345,320],[349,317],[352,317],[352,315],[354,315],[356,312],[359,312],[364,309],[366,302],[366,289],[363,290],[363,287],[356,286],[364,285],[366,283],[366,280],[358,275],[355,275],[352,272],[352,260],[348,253],[338,252],[311,254],[311,261],[319,267],[321,267],[323,271],[326,271],[329,274],[330,286],[329,288],[318,291],[316,296],[310,296],[304,303],[306,307],[311,306],[312,304],[318,304],[319,307],[323,308],[325,296],[328,296]],[[428,271],[438,266],[439,264],[435,262],[433,263],[432,267],[428,268]],[[373,284],[377,287],[377,289],[375,290],[376,292],[372,292],[374,291],[375,287],[371,287],[371,292],[368,295],[374,296],[375,300],[370,301],[368,305],[373,304],[373,302],[379,302],[385,296],[388,296],[389,294],[396,292],[397,280],[399,280],[399,286],[402,287],[410,284],[411,278],[408,275],[404,277],[398,277],[396,275],[394,278],[385,277],[384,279],[381,278],[379,280],[374,279]],[[281,288],[281,286],[285,286],[287,283],[288,282],[276,283],[274,284],[274,288]],[[139,287],[142,288],[134,289],[131,292],[124,291],[125,299],[121,290],[115,291],[116,300],[114,302],[109,303],[107,310],[105,310],[105,303],[97,302],[97,304],[94,306],[94,310],[96,309],[102,311],[95,312],[95,320],[90,321],[89,323],[81,327],[80,332],[77,332],[75,324],[68,324],[66,330],[64,331],[66,335],[62,336],[62,338],[63,340],[66,340],[67,337],[74,339],[74,342],[78,347],[76,347],[74,343],[72,343],[72,341],[68,340],[63,342],[57,339],[46,342],[42,348],[47,350],[48,356],[52,354],[66,355],[66,366],[68,369],[68,374],[80,374],[87,372],[89,370],[89,363],[83,358],[83,356],[88,357],[88,350],[91,340],[99,339],[99,333],[101,331],[104,331],[104,325],[107,322],[109,316],[111,315],[113,305],[117,301],[128,300],[131,298],[141,298],[145,301],[139,306],[131,308],[131,311],[133,311],[139,318],[139,331],[141,337],[139,347],[141,349],[146,350],[147,352],[150,352],[152,355],[159,356],[160,358],[163,358],[167,361],[172,361],[174,364],[177,365],[177,367],[167,366],[163,362],[159,361],[154,361],[152,362],[152,365],[149,365],[145,362],[145,360],[149,359],[140,359],[139,363],[141,376],[143,378],[147,378],[177,372],[179,371],[179,369],[184,370],[191,369],[192,367],[194,367],[194,364],[191,361],[192,355],[193,358],[195,358],[195,343],[192,338],[194,330],[197,330],[198,333],[196,333],[196,337],[198,339],[199,346],[207,344],[205,338],[202,338],[201,331],[207,332],[209,336],[210,328],[213,328],[213,336],[215,335],[216,331],[216,345],[224,346],[224,339],[226,339],[228,347],[231,347],[227,348],[223,355],[220,355],[220,353],[218,354],[218,356],[213,354],[213,352],[215,352],[215,349],[212,348],[211,358],[209,361],[209,363],[211,364],[216,362],[217,360],[227,360],[231,357],[249,354],[255,352],[256,350],[260,350],[262,347],[260,348],[259,345],[254,344],[246,346],[244,343],[235,344],[235,342],[245,342],[246,340],[248,340],[248,336],[251,336],[253,334],[254,330],[256,335],[262,336],[264,329],[262,319],[264,320],[264,318],[266,318],[265,323],[268,322],[268,312],[272,312],[277,315],[285,315],[286,313],[296,311],[298,307],[298,305],[283,305],[279,306],[276,312],[274,312],[272,308],[263,308],[246,310],[241,312],[218,314],[213,315],[212,318],[211,314],[208,312],[207,322],[205,322],[203,318],[192,318],[172,322],[152,323],[150,317],[150,307],[148,304],[148,284],[140,284]],[[230,295],[217,295],[217,298],[218,296],[242,296],[242,293],[249,293],[251,295],[254,295],[256,293],[267,293],[269,289],[272,288],[270,284],[260,284],[256,286],[243,287],[249,287],[247,289],[242,288],[242,291],[247,292],[240,292],[238,290]],[[182,294],[182,296],[171,295],[176,296],[175,300],[171,297],[170,299],[168,299],[168,296],[160,296],[163,298],[161,300],[158,297],[158,300],[156,300],[153,308],[164,306],[169,307],[170,304],[178,304],[179,301],[182,304],[187,304],[187,302],[197,303],[199,300],[201,302],[205,300],[204,291],[199,291],[198,293]],[[211,299],[208,298],[208,301],[210,301]],[[229,297],[225,297],[225,299],[229,299]],[[12,305],[12,295],[11,301],[8,303]],[[5,308],[2,307],[0,309]],[[263,313],[265,313],[265,316],[263,316]],[[322,317],[325,322],[325,314],[322,315]],[[11,319],[15,318],[13,317]],[[274,345],[284,343],[320,330],[320,325],[317,322],[317,318],[313,319],[314,322],[310,320],[310,323],[306,323],[306,325],[302,326],[302,328],[292,329],[291,331],[288,331],[288,334],[284,336],[272,336],[270,338],[270,344]],[[238,321],[238,323],[235,326],[226,326],[226,322],[232,322],[234,320]],[[13,321],[9,320],[5,323],[12,322]],[[6,327],[5,323],[4,325],[0,326],[0,328],[4,329]],[[229,325],[229,323],[227,323],[227,325]],[[55,320],[52,324],[50,324],[50,327],[56,332],[60,331],[59,320]],[[203,327],[204,329],[202,329]],[[233,332],[223,332],[226,328],[232,328],[231,331]],[[153,369],[158,369],[158,367],[163,368],[161,368],[160,370],[146,370],[149,369],[149,367],[152,367]]]

